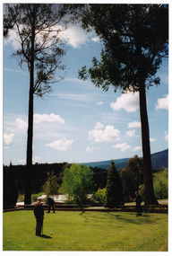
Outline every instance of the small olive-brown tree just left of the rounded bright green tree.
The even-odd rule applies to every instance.
[[[47,172],[48,179],[44,184],[43,190],[46,195],[57,195],[58,194],[58,178],[56,177],[54,170],[51,173]]]

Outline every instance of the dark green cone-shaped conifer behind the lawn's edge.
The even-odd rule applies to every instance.
[[[107,207],[115,207],[123,200],[122,184],[116,164],[111,161],[107,172]]]

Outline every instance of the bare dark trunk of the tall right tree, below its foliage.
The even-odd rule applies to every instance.
[[[157,205],[159,204],[155,199],[153,190],[153,178],[151,169],[151,158],[150,158],[150,131],[147,114],[147,103],[146,103],[146,92],[145,84],[140,84],[140,115],[142,125],[142,156],[143,156],[143,173],[144,173],[144,204]]]

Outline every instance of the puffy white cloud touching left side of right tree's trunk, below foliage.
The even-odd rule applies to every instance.
[[[113,110],[124,109],[127,112],[139,110],[139,93],[123,93],[120,97],[117,97],[116,102],[110,103],[110,107]]]

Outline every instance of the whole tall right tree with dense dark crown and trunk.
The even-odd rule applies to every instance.
[[[152,182],[146,90],[159,84],[156,73],[163,57],[168,57],[168,5],[86,4],[82,27],[93,29],[104,49],[100,60],[93,58],[92,67],[82,67],[79,77],[90,77],[104,91],[112,85],[115,92],[139,92],[145,205],[158,204]]]

